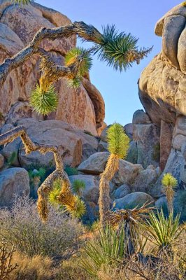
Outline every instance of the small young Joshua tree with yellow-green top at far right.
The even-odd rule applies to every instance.
[[[166,173],[163,176],[162,185],[164,194],[166,195],[169,213],[171,213],[173,211],[174,188],[178,185],[178,181],[171,173]]]

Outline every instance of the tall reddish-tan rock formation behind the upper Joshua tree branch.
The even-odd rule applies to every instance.
[[[65,15],[38,3],[18,6],[12,1],[0,0],[0,63],[24,48],[41,27],[59,27],[69,23],[71,21]],[[59,64],[63,64],[66,52],[76,46],[76,36],[55,41],[45,40],[41,46]],[[34,55],[23,66],[10,72],[6,83],[0,88],[0,112],[3,115],[8,113],[15,102],[29,100],[31,89],[40,75],[38,64],[38,55]],[[48,119],[63,120],[96,135],[96,130],[103,125],[104,119],[104,102],[96,87],[88,78],[84,78],[83,85],[78,90],[67,87],[64,78],[56,83],[56,87],[59,105]]]

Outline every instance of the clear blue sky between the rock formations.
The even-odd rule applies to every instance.
[[[154,33],[155,23],[178,0],[36,0],[43,6],[59,10],[72,21],[83,20],[101,31],[102,25],[115,24],[119,31],[131,32],[139,38],[138,45],[154,48],[141,64],[127,70],[114,71],[106,63],[94,58],[90,71],[92,83],[96,85],[106,104],[107,124],[117,121],[122,125],[131,123],[134,111],[143,109],[138,99],[138,78],[150,60],[161,50],[162,38]]]

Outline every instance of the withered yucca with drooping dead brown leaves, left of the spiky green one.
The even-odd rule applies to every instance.
[[[108,223],[118,232],[124,231],[124,244],[127,248],[127,255],[132,255],[138,248],[141,240],[141,230],[143,228],[144,219],[148,218],[150,212],[154,207],[150,207],[151,203],[145,203],[142,207],[135,207],[134,209],[116,209],[109,211]]]

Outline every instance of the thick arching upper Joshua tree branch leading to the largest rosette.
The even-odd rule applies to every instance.
[[[86,25],[84,22],[74,22],[71,25],[66,25],[57,28],[41,28],[37,31],[33,40],[27,47],[20,50],[16,55],[11,58],[7,58],[0,65],[0,85],[2,86],[8,76],[8,73],[18,66],[22,66],[32,55],[38,53],[41,56],[46,56],[47,52],[39,48],[39,44],[44,38],[55,40],[57,38],[69,38],[77,34],[85,41],[92,41],[99,43],[101,34],[99,31],[92,27],[92,25]],[[56,66],[60,76],[66,76],[70,72],[69,67]],[[67,69],[66,69],[67,68]]]

